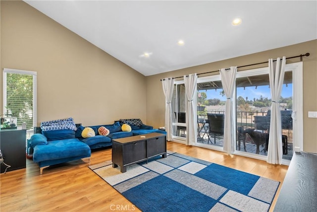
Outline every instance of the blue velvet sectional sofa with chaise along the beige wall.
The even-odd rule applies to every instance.
[[[121,130],[123,124],[129,124],[130,132]],[[112,145],[113,139],[126,138],[149,133],[162,133],[165,131],[153,129],[152,126],[144,125],[140,119],[120,119],[110,125],[86,126],[94,130],[95,136],[83,138],[82,131],[85,129],[81,124],[76,124],[77,130],[54,130],[42,131],[35,128],[35,134],[30,139],[33,148],[33,161],[40,166],[40,174],[43,169],[51,165],[64,163],[72,160],[87,158],[90,162],[91,149]],[[98,129],[105,127],[109,135],[99,135]]]

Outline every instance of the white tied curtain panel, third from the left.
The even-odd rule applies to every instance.
[[[220,78],[224,94],[227,97],[226,108],[224,113],[224,135],[223,135],[223,150],[228,154],[233,152],[233,146],[236,141],[236,122],[233,110],[233,91],[236,86],[237,67],[230,67],[229,69],[220,69]]]

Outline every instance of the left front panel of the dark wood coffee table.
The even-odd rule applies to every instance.
[[[135,141],[123,145],[123,165],[147,158],[147,141]]]

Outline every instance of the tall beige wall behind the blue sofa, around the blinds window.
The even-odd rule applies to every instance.
[[[1,0],[0,59],[1,76],[3,68],[37,71],[38,125],[66,117],[86,126],[146,123],[144,75],[23,1]]]

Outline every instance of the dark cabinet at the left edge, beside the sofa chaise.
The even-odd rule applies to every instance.
[[[1,130],[0,149],[4,163],[10,165],[6,171],[22,169],[26,167],[26,130]],[[6,165],[1,164],[1,173]]]

